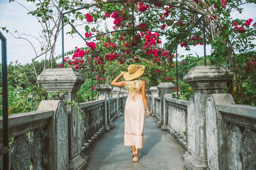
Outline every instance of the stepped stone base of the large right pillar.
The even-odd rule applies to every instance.
[[[208,168],[206,159],[195,159],[188,151],[183,155],[183,158],[186,170],[206,170]]]

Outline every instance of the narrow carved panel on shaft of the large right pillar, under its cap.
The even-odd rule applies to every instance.
[[[195,151],[195,119],[194,119],[194,97],[189,99],[188,107],[188,150],[190,153]]]

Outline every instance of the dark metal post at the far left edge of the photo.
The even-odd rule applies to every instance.
[[[0,155],[3,155],[3,169],[9,170],[9,135],[8,135],[8,88],[7,88],[7,48],[6,38],[0,32],[2,41],[2,109],[3,109],[3,146]]]

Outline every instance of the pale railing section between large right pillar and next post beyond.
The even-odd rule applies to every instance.
[[[167,129],[170,134],[187,150],[187,107],[189,101],[164,98],[164,114],[168,117]]]

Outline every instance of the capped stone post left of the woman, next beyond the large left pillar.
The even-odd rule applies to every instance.
[[[110,120],[110,92],[113,88],[109,84],[99,84],[95,87],[95,90],[98,92],[98,98],[101,98],[103,96],[106,96],[107,100],[107,109],[105,111],[105,117],[107,116],[107,124],[112,129],[114,127],[113,122]],[[106,127],[108,128],[108,127]]]

